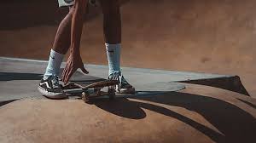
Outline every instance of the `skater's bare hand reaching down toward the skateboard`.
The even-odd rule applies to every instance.
[[[80,55],[70,54],[67,60],[67,64],[65,69],[62,72],[61,79],[64,84],[67,84],[70,77],[72,77],[73,73],[77,71],[77,69],[81,69],[82,72],[88,74],[89,72],[85,70],[83,61]]]

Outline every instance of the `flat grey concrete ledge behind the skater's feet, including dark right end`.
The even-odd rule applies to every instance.
[[[44,74],[47,61],[0,58],[0,101],[23,98],[42,98],[38,93],[38,81]],[[65,66],[63,63],[62,67]],[[84,79],[88,82],[99,81],[108,77],[108,66],[86,65],[89,75],[76,72],[71,81]],[[196,83],[229,89],[247,94],[239,77],[197,72],[174,72],[152,69],[123,67],[127,80],[137,89],[137,95],[156,95],[184,89],[182,83]]]

